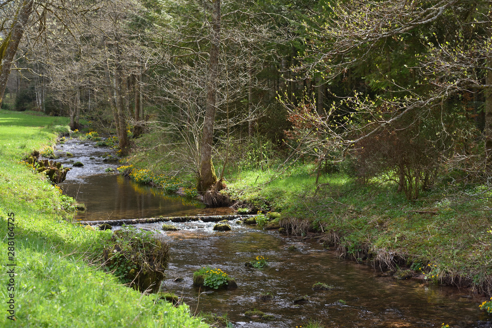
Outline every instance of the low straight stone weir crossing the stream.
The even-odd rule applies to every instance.
[[[101,220],[101,221],[79,221],[83,224],[89,225],[99,225],[99,224],[109,224],[109,225],[122,225],[122,224],[138,224],[138,223],[154,223],[161,221],[172,221],[172,222],[190,222],[190,221],[203,221],[203,222],[218,222],[222,220],[234,220],[243,218],[252,218],[255,215],[210,215],[210,216],[190,216],[190,217],[158,217],[158,218],[145,218],[145,219],[121,219],[121,220]]]

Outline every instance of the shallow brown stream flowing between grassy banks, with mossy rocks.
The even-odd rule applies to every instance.
[[[76,219],[135,219],[150,217],[227,215],[229,208],[207,209],[198,201],[142,186],[107,172],[118,167],[105,162],[114,154],[95,142],[68,139],[57,146],[57,161],[73,167],[61,184],[64,193],[85,203],[87,211]],[[70,152],[73,157],[67,157]],[[468,289],[438,286],[420,279],[384,277],[366,265],[340,259],[316,241],[288,237],[277,231],[229,221],[231,231],[217,232],[214,222],[172,223],[179,231],[162,231],[166,222],[141,223],[155,230],[171,246],[171,262],[161,290],[176,293],[193,312],[228,314],[234,327],[284,328],[316,320],[329,327],[492,327],[478,305],[485,299]],[[170,223],[170,222],[168,222]],[[119,229],[114,226],[113,230]],[[291,247],[289,247],[291,246]],[[263,270],[246,262],[268,258]],[[193,272],[205,267],[221,269],[234,277],[237,289],[211,290],[193,286]],[[182,278],[182,279],[176,279]],[[176,280],[176,281],[175,281]],[[313,290],[316,282],[333,286]],[[262,301],[270,293],[273,300]],[[296,301],[304,297],[305,301]],[[273,317],[262,321],[245,316],[258,309]]]

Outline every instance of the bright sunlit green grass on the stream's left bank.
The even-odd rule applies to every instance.
[[[66,118],[0,110],[0,298],[8,300],[7,214],[15,214],[15,317],[0,327],[208,327],[189,308],[154,302],[104,273],[101,249],[109,231],[70,223],[72,200],[20,163],[50,147]],[[45,126],[44,128],[40,126]],[[12,247],[12,246],[10,246]],[[12,293],[12,292],[9,292]],[[5,307],[4,307],[5,308]]]

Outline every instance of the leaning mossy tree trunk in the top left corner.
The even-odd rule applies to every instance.
[[[33,0],[24,0],[21,2],[14,21],[10,26],[11,29],[0,44],[0,107],[14,56],[17,53],[17,48],[24,34],[24,28],[29,20],[29,16],[31,16],[33,2]]]

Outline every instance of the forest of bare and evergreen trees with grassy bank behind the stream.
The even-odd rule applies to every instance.
[[[491,22],[485,0],[4,0],[0,113],[66,117],[136,182],[488,299]]]

